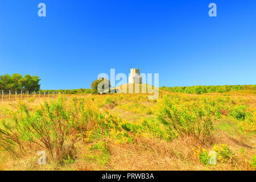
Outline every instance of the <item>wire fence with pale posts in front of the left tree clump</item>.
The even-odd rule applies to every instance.
[[[58,94],[64,94],[61,92],[29,92],[23,90],[1,90],[0,101],[15,101],[15,100],[27,100],[29,98],[56,98]]]

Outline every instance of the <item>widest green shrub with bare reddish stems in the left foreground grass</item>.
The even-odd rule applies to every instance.
[[[46,148],[57,160],[74,156],[75,143],[86,137],[86,131],[97,125],[101,115],[89,106],[85,109],[82,101],[77,104],[79,100],[74,99],[73,102],[73,108],[65,107],[63,99],[59,98],[51,103],[44,102],[35,112],[20,104],[13,119],[2,122],[0,146],[18,155],[27,152],[26,143],[34,143]]]

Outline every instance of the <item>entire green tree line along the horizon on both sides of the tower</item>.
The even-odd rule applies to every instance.
[[[64,94],[82,94],[82,93],[97,93],[98,84],[104,81],[104,78],[101,80],[94,80],[91,85],[91,89],[59,89],[59,90],[40,90],[40,78],[39,76],[31,76],[25,75],[22,76],[18,73],[14,73],[12,76],[0,75],[0,90],[11,90],[11,92],[15,92],[15,90],[23,90],[29,92],[61,92]],[[110,85],[110,81],[106,80]],[[104,85],[102,86],[104,89]],[[170,92],[182,92],[182,93],[225,93],[230,91],[239,91],[239,90],[256,90],[256,85],[222,85],[222,86],[175,86],[175,87],[166,87],[162,86],[160,89],[168,90]]]

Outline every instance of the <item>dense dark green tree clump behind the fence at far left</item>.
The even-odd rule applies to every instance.
[[[29,92],[40,90],[39,76],[25,75],[22,76],[18,73],[14,73],[12,76],[0,75],[0,90],[26,90]]]

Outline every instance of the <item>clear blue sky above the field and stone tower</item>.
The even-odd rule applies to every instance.
[[[0,75],[76,89],[110,68],[160,86],[256,84],[256,1],[0,0]]]

